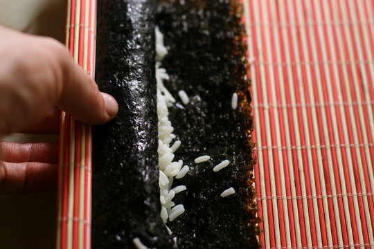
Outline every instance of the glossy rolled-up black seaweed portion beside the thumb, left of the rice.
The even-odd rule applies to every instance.
[[[157,1],[99,0],[96,80],[119,104],[94,128],[92,248],[175,248],[160,218],[154,11]]]

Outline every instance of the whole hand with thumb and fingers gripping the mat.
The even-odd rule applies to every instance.
[[[0,138],[13,132],[58,133],[60,111],[101,124],[118,111],[100,93],[69,51],[51,38],[0,26]],[[0,193],[47,190],[55,186],[57,144],[1,142]]]

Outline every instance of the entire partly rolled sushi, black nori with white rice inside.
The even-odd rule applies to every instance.
[[[259,248],[239,0],[98,1],[92,248]]]

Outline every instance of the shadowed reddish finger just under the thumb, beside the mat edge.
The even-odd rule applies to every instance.
[[[31,134],[57,134],[60,127],[61,111],[57,108],[51,109],[42,121],[26,128],[23,133]]]

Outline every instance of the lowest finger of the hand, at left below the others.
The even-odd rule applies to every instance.
[[[57,165],[51,163],[0,162],[0,194],[24,194],[54,190]]]

